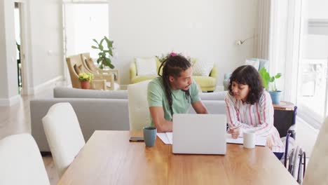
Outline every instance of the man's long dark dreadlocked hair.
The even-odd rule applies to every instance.
[[[182,55],[175,55],[175,56],[169,56],[167,57],[162,64],[160,64],[160,67],[158,68],[158,76],[162,77],[164,88],[165,88],[165,95],[168,99],[168,103],[170,106],[170,112],[171,116],[173,116],[173,109],[172,109],[172,90],[170,86],[170,80],[169,76],[173,76],[175,78],[180,76],[180,72],[186,71],[186,69],[189,69],[191,67],[191,63],[189,60],[186,60],[185,57]],[[160,69],[163,68],[162,74],[160,74]],[[183,90],[185,93],[186,100],[189,99],[192,102],[191,95],[189,93],[189,90]]]

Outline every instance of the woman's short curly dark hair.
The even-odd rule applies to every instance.
[[[229,81],[228,90],[230,95],[233,95],[232,83],[234,81],[238,84],[248,85],[250,87],[250,93],[247,95],[246,103],[254,104],[259,102],[264,86],[257,69],[251,65],[240,66],[233,71]]]

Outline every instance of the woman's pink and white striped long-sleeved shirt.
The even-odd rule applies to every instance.
[[[272,151],[284,152],[278,130],[273,126],[273,105],[270,94],[264,90],[259,103],[247,104],[226,93],[226,118],[229,128],[254,130],[257,135],[271,137]]]

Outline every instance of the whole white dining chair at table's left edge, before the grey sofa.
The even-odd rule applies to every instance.
[[[61,177],[86,144],[78,118],[71,104],[57,103],[50,107],[42,123],[53,162]]]

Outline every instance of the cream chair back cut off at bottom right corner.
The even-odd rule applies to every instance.
[[[328,184],[328,117],[321,125],[317,141],[313,148],[303,185]]]

